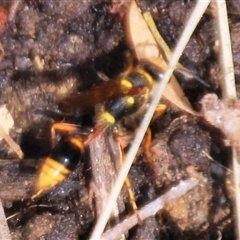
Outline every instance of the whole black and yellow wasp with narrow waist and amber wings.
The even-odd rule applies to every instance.
[[[62,99],[59,109],[67,114],[100,104],[95,119],[95,130],[87,140],[80,136],[71,136],[67,140],[61,140],[52,149],[39,170],[35,183],[36,194],[32,198],[66,179],[76,168],[85,148],[103,130],[145,106],[154,84],[161,81],[162,75],[163,71],[157,64],[142,59],[119,78]],[[66,132],[77,131],[76,126],[64,123],[55,124],[54,128]]]

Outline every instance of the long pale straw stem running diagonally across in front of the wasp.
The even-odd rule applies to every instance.
[[[107,207],[104,209],[104,211],[102,212],[102,215],[99,217],[90,239],[99,239],[101,237],[102,232],[103,232],[103,230],[107,224],[107,221],[109,219],[109,216],[111,214],[112,208],[113,208],[113,206],[118,198],[118,195],[122,189],[122,186],[128,175],[128,172],[130,170],[132,162],[134,161],[134,158],[137,154],[138,148],[142,142],[145,132],[146,132],[146,130],[149,126],[149,123],[152,119],[152,116],[155,112],[155,109],[156,109],[156,107],[162,97],[162,94],[166,88],[166,85],[167,85],[170,77],[173,74],[174,68],[175,68],[180,56],[182,55],[182,52],[183,52],[190,36],[192,35],[194,29],[196,28],[199,20],[201,19],[202,15],[205,12],[206,8],[208,7],[209,3],[210,3],[210,0],[209,1],[207,1],[207,0],[206,1],[198,1],[195,8],[193,9],[191,16],[187,22],[187,25],[183,30],[183,34],[180,37],[180,40],[176,46],[175,51],[173,52],[173,56],[172,56],[171,60],[169,61],[169,68],[166,71],[166,73],[164,74],[161,84],[159,84],[159,86],[156,88],[156,90],[153,93],[153,96],[155,96],[155,98],[150,103],[148,111],[146,112],[146,114],[140,124],[140,127],[139,127],[140,130],[136,134],[136,137],[131,145],[131,148],[130,148],[128,154],[126,155],[125,162],[119,172],[119,175],[117,177],[114,188],[112,189],[112,191],[109,195],[109,198],[108,198],[108,201],[106,204]]]

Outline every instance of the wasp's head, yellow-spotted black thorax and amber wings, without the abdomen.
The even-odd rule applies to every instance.
[[[104,103],[96,117],[96,126],[113,125],[137,112],[148,100],[154,82],[161,80],[160,68],[147,59],[120,78],[104,82],[90,90],[68,96],[59,102],[64,113]]]

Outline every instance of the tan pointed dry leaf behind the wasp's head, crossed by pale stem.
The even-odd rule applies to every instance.
[[[158,64],[163,71],[167,63],[161,58],[159,46],[149,30],[135,1],[132,1],[126,18],[126,35],[130,46],[135,50],[138,59],[150,58]],[[169,82],[164,97],[180,109],[198,115],[191,107],[175,77]]]

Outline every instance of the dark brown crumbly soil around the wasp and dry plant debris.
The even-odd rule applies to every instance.
[[[171,48],[195,4],[182,0],[137,3],[142,11],[150,10]],[[4,189],[0,196],[7,216],[19,213],[8,221],[12,239],[87,239],[91,233],[97,211],[88,150],[66,181],[34,203],[21,199],[33,186],[39,159],[51,151],[52,123],[64,120],[84,125],[89,118],[91,124],[94,121],[92,111],[84,117],[82,112],[65,115],[59,110],[59,100],[98,84],[100,73],[111,79],[127,68],[126,52],[131,49],[126,44],[124,15],[129,4],[127,0],[0,0],[0,103],[6,104],[14,119],[10,136],[26,159],[35,159],[6,162],[4,159],[16,155],[7,144],[0,144],[0,189]],[[238,83],[240,24],[236,9],[240,4],[228,1],[228,7]],[[214,92],[221,97],[213,20],[214,11],[209,8],[181,58],[186,68],[211,86],[181,81],[196,110],[205,94]],[[217,239],[219,234],[221,239],[234,239],[228,170],[231,148],[225,145],[224,134],[203,118],[165,104],[166,112],[150,126],[152,161],[149,163],[140,149],[129,174],[138,207],[193,174],[205,181],[125,233],[126,239]],[[120,128],[128,136],[122,144],[128,147],[133,126],[122,123]],[[104,163],[106,168],[108,164]],[[120,220],[132,212],[126,188],[121,198]]]

